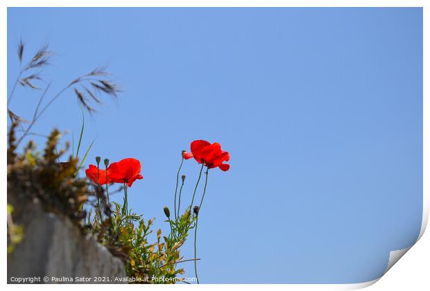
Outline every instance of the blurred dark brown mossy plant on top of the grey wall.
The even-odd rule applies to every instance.
[[[83,204],[95,194],[89,191],[86,179],[74,177],[78,159],[69,157],[65,162],[58,162],[67,151],[68,143],[58,152],[60,132],[53,130],[42,153],[36,152],[35,145],[29,141],[24,154],[17,155],[16,126],[12,124],[8,136],[8,188],[13,195],[10,198],[16,201],[37,198],[46,210],[63,213],[76,224],[82,224]]]

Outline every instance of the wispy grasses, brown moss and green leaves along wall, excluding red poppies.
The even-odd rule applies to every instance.
[[[23,60],[24,47],[24,43],[20,42],[18,49],[20,63]],[[177,267],[178,263],[192,261],[182,260],[180,248],[187,240],[189,231],[196,225],[196,215],[191,214],[191,206],[180,215],[179,210],[177,213],[175,205],[175,219],[172,220],[168,217],[168,220],[165,221],[169,223],[171,233],[162,236],[161,229],[158,229],[157,241],[150,243],[148,236],[152,233],[154,220],[144,220],[142,215],[132,213],[126,203],[121,205],[113,202],[114,211],[111,211],[105,190],[100,185],[90,184],[87,179],[77,175],[94,143],[93,140],[83,158],[78,161],[85,128],[84,117],[76,156],[72,137],[72,153],[67,161],[60,162],[60,158],[65,155],[69,148],[69,143],[60,151],[57,150],[60,139],[58,130],[53,130],[47,136],[46,146],[42,152],[37,152],[33,142],[29,141],[23,148],[22,154],[17,153],[18,145],[24,138],[33,134],[31,132],[33,125],[65,91],[74,89],[80,105],[89,113],[94,112],[89,100],[101,104],[98,94],[116,97],[119,93],[118,86],[106,79],[109,73],[105,71],[105,67],[96,68],[90,73],[72,80],[69,85],[53,94],[49,101],[44,104],[50,89],[50,85],[47,85],[44,89],[40,88],[43,89],[43,92],[35,107],[33,118],[27,126],[24,126],[26,123],[24,118],[10,110],[10,100],[17,84],[39,89],[33,84],[33,81],[40,81],[40,76],[37,73],[32,73],[32,71],[49,64],[50,56],[51,52],[46,46],[37,51],[28,64],[24,64],[24,69],[17,76],[15,85],[12,87],[10,96],[8,96],[8,115],[11,121],[7,152],[8,252],[12,252],[12,249],[24,236],[22,227],[13,223],[12,204],[32,202],[37,199],[46,211],[67,215],[82,231],[92,233],[99,243],[105,245],[114,256],[122,259],[128,276],[147,279],[145,281],[148,283],[175,283],[175,281],[157,279],[172,279],[176,278],[178,274],[184,274],[184,269]],[[76,88],[78,85],[82,86],[85,92],[79,91]],[[15,134],[18,127],[21,127],[22,134],[17,139]],[[108,164],[109,161],[105,160],[106,167]],[[179,172],[178,170],[178,177]],[[176,192],[178,191],[178,177]],[[184,176],[182,177],[182,186],[183,184]],[[126,200],[124,201],[126,202]],[[89,209],[88,213],[86,209]]]

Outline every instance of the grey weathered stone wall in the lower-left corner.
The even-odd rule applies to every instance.
[[[20,207],[14,219],[24,227],[24,239],[8,254],[8,283],[18,283],[17,278],[40,278],[40,283],[119,283],[115,278],[126,278],[119,258],[85,236],[69,218],[43,211],[37,200]],[[44,282],[44,277],[49,280]]]

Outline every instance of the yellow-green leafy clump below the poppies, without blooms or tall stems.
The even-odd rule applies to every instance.
[[[126,272],[130,277],[141,278],[147,283],[174,283],[171,279],[184,274],[184,269],[177,268],[183,257],[180,247],[184,245],[189,230],[194,227],[195,217],[187,210],[177,220],[166,220],[171,223],[172,232],[162,236],[161,229],[157,230],[157,241],[148,242],[148,235],[152,233],[154,220],[145,221],[142,215],[126,213],[126,209],[119,203],[113,202],[111,224],[101,243],[110,249],[121,248],[126,254],[124,260]],[[94,213],[97,213],[95,211]],[[99,215],[89,215],[92,229],[98,228]]]

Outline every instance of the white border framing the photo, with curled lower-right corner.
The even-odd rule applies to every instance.
[[[101,6],[101,3],[103,3],[103,6]],[[361,1],[351,1],[351,0],[345,0],[345,1],[322,1],[322,0],[302,0],[302,1],[292,1],[292,0],[266,0],[266,1],[256,1],[256,0],[249,0],[249,1],[237,1],[237,0],[218,0],[218,1],[197,1],[197,0],[187,0],[187,1],[174,1],[174,0],[160,0],[160,1],[136,1],[136,0],[104,0],[104,1],[96,1],[96,0],[67,0],[67,1],[55,1],[55,0],[40,0],[40,1],[34,1],[34,0],[6,0],[1,1],[1,12],[0,12],[0,29],[1,29],[1,46],[0,46],[0,55],[1,55],[1,64],[5,64],[1,66],[1,76],[0,78],[0,90],[3,92],[3,103],[1,104],[1,117],[3,118],[3,121],[6,121],[6,96],[7,96],[7,88],[6,88],[6,76],[7,76],[7,52],[6,52],[6,44],[7,44],[7,7],[423,7],[423,61],[424,61],[424,71],[423,71],[423,85],[424,85],[424,91],[423,91],[423,149],[429,148],[429,134],[426,133],[426,130],[429,129],[429,118],[427,117],[429,115],[429,96],[428,96],[428,85],[429,82],[429,74],[428,70],[430,68],[429,66],[429,58],[428,58],[428,51],[429,51],[429,10],[426,6],[427,1],[418,1],[418,0],[411,0],[411,1],[402,1],[402,0],[395,0],[395,1],[383,1],[383,0],[361,0]],[[4,106],[4,107],[3,107]],[[3,143],[1,143],[1,152],[3,155],[1,156],[1,159],[3,160],[3,165],[6,165],[6,123],[1,127],[0,134],[3,138]],[[420,236],[418,237],[418,240],[422,237],[426,227],[427,222],[429,218],[429,155],[427,154],[427,151],[424,150],[423,152],[423,213],[422,213],[422,227],[420,230]],[[6,167],[3,166],[1,168],[1,174],[3,175],[3,179],[6,177]],[[4,180],[3,180],[4,181]],[[3,183],[3,193],[2,200],[3,205],[6,205],[6,183]],[[3,223],[3,233],[6,233],[6,223]],[[3,238],[2,242],[2,249],[6,249],[6,240]],[[401,258],[406,252],[408,252],[409,249],[411,249],[412,246],[401,249],[397,251],[390,252],[390,259],[388,263],[388,267],[386,269],[386,272],[390,270],[390,267],[393,267],[393,265]],[[3,274],[6,274],[6,252],[3,252],[3,260],[1,265],[1,270],[3,270]],[[6,284],[6,276],[3,275],[1,278],[3,283]],[[284,284],[284,285],[258,285],[261,286],[261,288],[270,288],[272,290],[275,289],[289,289],[289,290],[354,290],[359,288],[365,288],[369,285],[372,285],[373,283],[377,282],[379,279],[363,282],[363,283],[356,283],[356,284]],[[132,285],[128,285],[133,288]],[[187,286],[187,287],[185,287]],[[216,288],[218,289],[220,285],[193,285],[193,287],[189,285],[176,285],[175,288],[202,288],[205,286],[205,288]],[[238,286],[238,285],[234,285]],[[250,285],[245,285],[250,287]],[[8,285],[8,288],[24,288],[24,285]],[[32,285],[31,288],[35,289],[42,289],[42,288],[54,288],[53,285]],[[63,285],[62,288],[75,288],[74,285]],[[117,286],[114,285],[106,285],[105,288],[111,289],[117,288]],[[163,287],[160,285],[153,286],[152,288],[168,288],[166,285]]]

